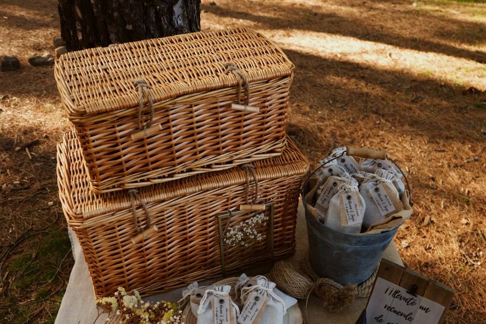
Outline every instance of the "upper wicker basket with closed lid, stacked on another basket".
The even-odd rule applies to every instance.
[[[100,193],[281,154],[293,69],[235,28],[68,53],[55,77]]]

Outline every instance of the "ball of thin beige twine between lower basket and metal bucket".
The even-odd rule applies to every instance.
[[[270,272],[270,279],[277,284],[284,293],[298,299],[309,296],[314,281],[297,272],[290,263],[278,261]]]

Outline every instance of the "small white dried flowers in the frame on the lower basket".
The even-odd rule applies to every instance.
[[[260,213],[256,214],[255,216],[240,222],[239,224],[228,227],[225,230],[224,234],[224,242],[230,246],[244,246],[249,247],[251,243],[255,240],[261,241],[265,238],[265,235],[258,231],[258,226],[263,223],[263,226],[266,226],[266,221],[268,220],[268,216],[265,214]]]

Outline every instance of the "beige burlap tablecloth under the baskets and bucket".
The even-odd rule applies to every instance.
[[[71,236],[72,251],[75,263],[69,277],[69,283],[66,288],[66,293],[62,299],[61,307],[59,308],[55,324],[92,324],[98,315],[98,311],[95,304],[93,287],[91,286],[88,265],[85,262],[83,252],[81,251],[76,235],[71,230],[69,230],[69,235]],[[296,253],[288,261],[290,261],[296,269],[299,269],[301,260],[306,255],[308,249],[307,228],[305,225],[304,209],[302,204],[299,206],[296,236]],[[384,258],[403,265],[393,243],[385,251]],[[268,270],[268,267],[260,267],[258,269],[251,269],[247,271],[247,273],[259,274],[266,273]],[[209,285],[216,280],[218,279],[201,281],[200,285]],[[144,300],[168,300],[175,302],[180,299],[181,292],[182,288],[172,292],[150,296],[148,298],[144,298]],[[352,305],[339,311],[339,313],[326,312],[320,307],[319,301],[319,298],[315,296],[311,296],[309,298],[307,315],[311,324],[354,324],[362,309],[365,307],[367,299],[358,298]],[[304,314],[305,300],[300,300],[299,306]],[[102,324],[105,322],[105,319],[106,315],[102,314],[95,324]]]

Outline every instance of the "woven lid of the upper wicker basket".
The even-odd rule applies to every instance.
[[[268,38],[247,28],[203,31],[62,55],[56,77],[71,116],[136,107],[134,82],[144,79],[154,102],[238,84],[233,62],[249,82],[291,75],[294,65]]]

